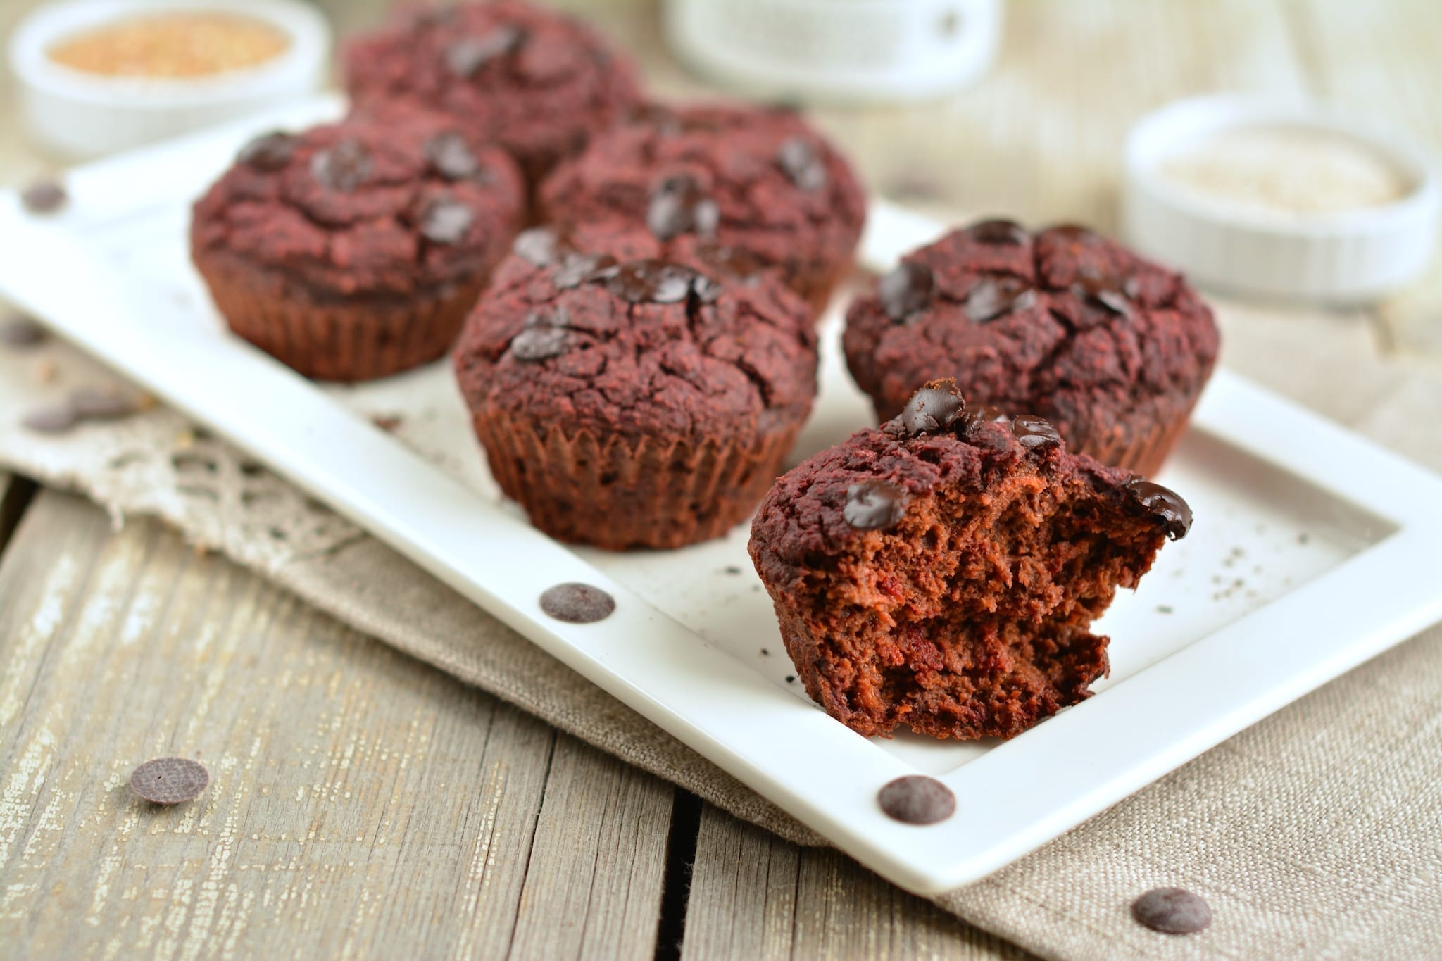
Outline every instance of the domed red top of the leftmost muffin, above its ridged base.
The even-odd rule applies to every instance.
[[[385,111],[247,144],[195,205],[192,246],[337,295],[489,269],[519,229],[515,161],[440,115]]]

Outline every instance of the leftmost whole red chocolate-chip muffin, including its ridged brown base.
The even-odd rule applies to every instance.
[[[195,205],[190,255],[241,337],[323,380],[450,347],[523,219],[497,147],[440,115],[268,134]]]

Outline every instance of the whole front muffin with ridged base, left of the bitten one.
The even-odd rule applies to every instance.
[[[810,412],[810,317],[766,275],[647,258],[653,238],[613,228],[516,238],[457,344],[461,392],[500,488],[552,537],[718,537]]]

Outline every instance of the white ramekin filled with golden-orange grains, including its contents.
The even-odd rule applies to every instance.
[[[330,27],[300,0],[68,0],[10,39],[30,135],[95,157],[303,97]]]

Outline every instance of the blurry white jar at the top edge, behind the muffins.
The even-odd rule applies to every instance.
[[[753,97],[910,101],[981,76],[1001,0],[666,0],[666,40],[694,69]]]

